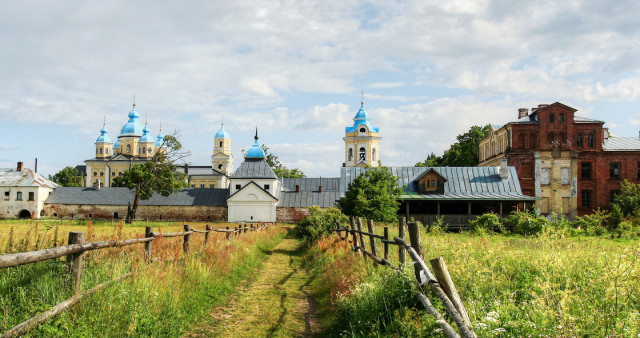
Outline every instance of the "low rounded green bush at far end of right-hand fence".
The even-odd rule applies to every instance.
[[[296,225],[296,236],[304,238],[312,243],[322,236],[331,235],[337,224],[344,224],[349,221],[338,208],[320,208],[318,206],[309,207],[309,216],[306,216]]]

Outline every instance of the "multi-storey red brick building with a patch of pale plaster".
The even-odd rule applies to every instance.
[[[627,179],[640,182],[640,137],[613,137],[605,122],[575,115],[562,103],[518,110],[479,144],[480,166],[515,166],[524,194],[542,214],[608,209]]]

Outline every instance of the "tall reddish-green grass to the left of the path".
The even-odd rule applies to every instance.
[[[87,237],[92,231],[89,224]],[[34,229],[30,238],[37,237],[36,232]],[[151,264],[145,259],[142,244],[86,252],[82,289],[126,272],[132,271],[133,276],[83,299],[32,335],[180,335],[223,302],[238,284],[250,280],[267,257],[265,251],[283,234],[282,229],[270,227],[227,241],[224,234],[212,233],[206,247],[204,235],[193,234],[187,255],[181,238],[158,238],[152,244]],[[116,227],[110,235],[93,238],[97,241],[123,237],[127,236],[122,227]],[[35,242],[29,243],[28,248],[34,249]],[[0,332],[70,296],[63,259],[0,270]]]

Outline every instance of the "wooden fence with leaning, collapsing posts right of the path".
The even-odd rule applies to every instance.
[[[409,233],[409,243],[405,240],[405,229],[407,229]],[[413,262],[414,273],[418,283],[418,289],[420,290],[420,292],[416,294],[416,297],[418,297],[418,300],[427,309],[427,312],[436,319],[445,336],[460,337],[443,316],[433,307],[431,301],[429,301],[422,289],[424,285],[427,285],[440,299],[449,317],[458,327],[460,334],[465,338],[476,337],[467,311],[442,257],[430,261],[435,276],[425,264],[422,253],[420,228],[416,222],[409,222],[409,224],[407,224],[406,218],[400,218],[398,222],[398,237],[394,237],[393,239],[389,236],[389,227],[384,227],[383,235],[376,234],[372,220],[367,221],[367,230],[368,231],[363,230],[362,220],[360,218],[355,219],[353,217],[350,220],[349,228],[340,227],[339,224],[336,224],[335,228],[335,232],[337,232],[342,240],[351,242],[354,252],[359,252],[363,257],[370,258],[376,266],[388,266],[401,273],[406,263],[406,253],[408,253]],[[369,240],[369,250],[367,250],[366,237],[368,237]],[[378,242],[383,245],[382,257],[378,255]],[[398,247],[398,267],[389,261],[390,245]]]

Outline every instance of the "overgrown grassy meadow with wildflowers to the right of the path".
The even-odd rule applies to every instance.
[[[403,275],[375,269],[335,238],[318,242],[308,256],[319,272],[316,296],[328,332],[439,332],[413,297],[410,266]],[[479,336],[640,334],[637,239],[423,233],[422,243],[425,258],[444,258]]]

